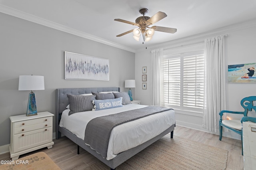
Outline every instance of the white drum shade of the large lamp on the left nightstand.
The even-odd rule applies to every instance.
[[[44,76],[20,75],[19,90],[44,90]]]

